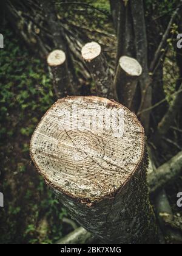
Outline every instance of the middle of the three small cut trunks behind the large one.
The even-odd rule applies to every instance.
[[[83,46],[81,55],[92,74],[97,96],[112,98],[112,74],[101,52],[101,46],[96,42],[87,43]]]

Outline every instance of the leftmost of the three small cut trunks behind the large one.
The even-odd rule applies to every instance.
[[[56,97],[63,98],[67,94],[69,79],[67,76],[66,54],[61,50],[55,50],[47,57],[50,73],[52,74],[53,87]]]

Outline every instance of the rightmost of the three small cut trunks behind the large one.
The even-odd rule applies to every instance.
[[[120,58],[113,83],[113,91],[118,101],[131,109],[136,85],[141,76],[142,68],[137,60],[123,56]]]

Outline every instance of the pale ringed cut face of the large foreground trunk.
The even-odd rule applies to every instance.
[[[112,197],[137,171],[144,158],[144,130],[121,104],[68,97],[45,113],[30,154],[51,187],[94,203]]]

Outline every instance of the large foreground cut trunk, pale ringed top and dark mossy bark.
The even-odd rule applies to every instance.
[[[30,154],[59,201],[103,243],[155,243],[144,130],[123,105],[69,97],[44,115]]]

